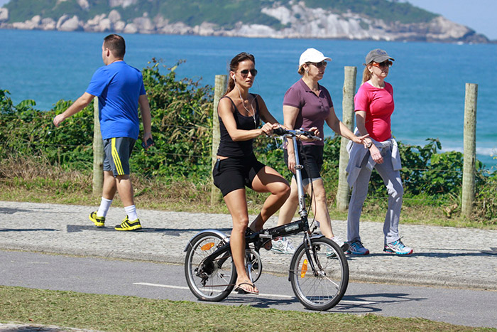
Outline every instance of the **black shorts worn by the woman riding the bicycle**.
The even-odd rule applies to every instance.
[[[254,154],[240,158],[217,159],[212,178],[224,197],[237,189],[252,188],[253,178],[264,167]]]

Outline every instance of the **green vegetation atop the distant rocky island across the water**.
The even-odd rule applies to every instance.
[[[9,9],[10,22],[30,20],[35,15],[57,20],[65,14],[77,15],[80,19],[87,21],[96,15],[108,14],[112,9],[116,9],[121,14],[121,18],[127,22],[131,22],[133,18],[142,17],[144,14],[151,18],[160,14],[170,22],[183,22],[188,26],[197,26],[205,21],[230,29],[241,21],[282,28],[278,19],[262,14],[261,9],[276,4],[290,6],[290,2],[290,0],[138,0],[132,6],[111,8],[107,0],[89,0],[89,8],[82,9],[77,4],[77,0],[11,0],[9,4],[6,4],[6,8]],[[383,19],[386,22],[419,23],[430,21],[436,16],[408,2],[388,0],[305,0],[305,4],[310,8],[329,9],[337,13],[351,11],[371,18]]]

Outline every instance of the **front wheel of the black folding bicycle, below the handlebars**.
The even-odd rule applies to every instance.
[[[349,285],[349,264],[342,249],[326,237],[311,240],[310,259],[305,244],[295,250],[290,282],[297,299],[307,309],[324,311],[336,306]]]

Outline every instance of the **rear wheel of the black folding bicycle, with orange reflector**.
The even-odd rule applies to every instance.
[[[185,277],[190,291],[202,301],[222,301],[233,290],[236,269],[231,251],[226,252],[209,267],[202,262],[221,244],[222,237],[214,232],[202,232],[190,241],[185,257]]]

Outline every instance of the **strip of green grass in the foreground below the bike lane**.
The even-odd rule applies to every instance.
[[[422,318],[279,311],[2,286],[0,321],[103,331],[496,331]]]

